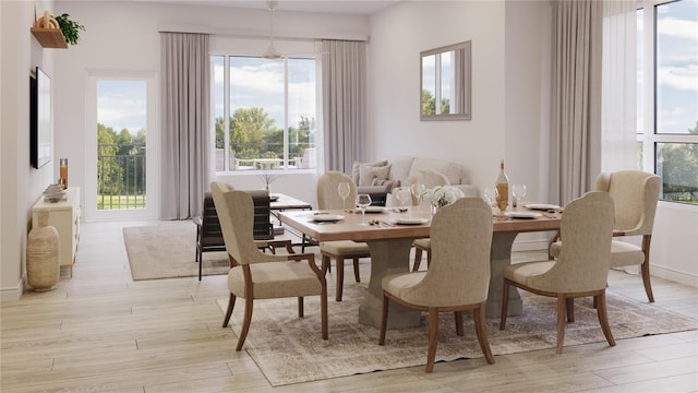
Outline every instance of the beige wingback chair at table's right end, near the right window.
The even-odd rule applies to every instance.
[[[597,191],[606,191],[613,198],[615,224],[613,236],[641,236],[642,245],[613,240],[611,243],[611,267],[640,265],[645,293],[654,301],[650,283],[650,242],[654,225],[654,212],[659,199],[661,178],[639,170],[623,170],[601,174],[597,178]],[[559,254],[561,242],[551,245],[552,257]]]

